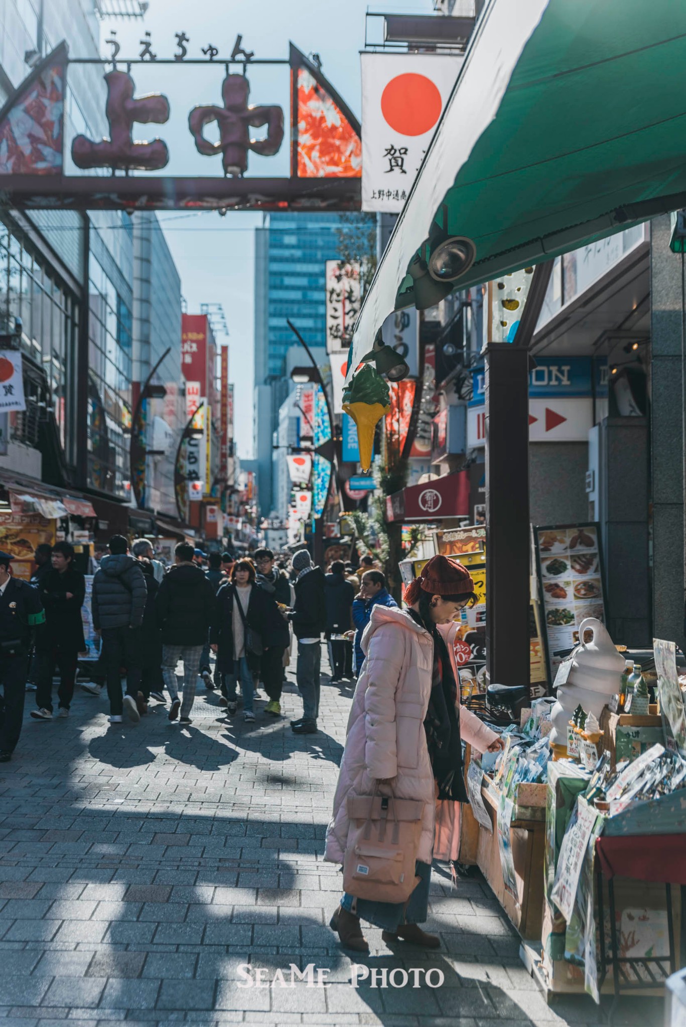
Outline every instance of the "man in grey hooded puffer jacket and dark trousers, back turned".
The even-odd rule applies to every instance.
[[[141,719],[138,692],[141,683],[141,624],[148,594],[138,561],[129,556],[123,535],[112,535],[109,557],[100,561],[93,579],[93,626],[103,640],[107,673],[110,724],[120,724],[123,710],[133,721]],[[127,668],[127,694],[121,697],[120,670]]]

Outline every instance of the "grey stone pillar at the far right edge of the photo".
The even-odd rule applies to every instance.
[[[669,215],[656,218],[650,245],[653,634],[684,648],[682,258],[670,251],[670,236]]]

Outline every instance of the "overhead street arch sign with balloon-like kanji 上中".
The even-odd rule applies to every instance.
[[[185,33],[176,33],[177,52],[160,59],[150,34],[145,36],[138,56],[127,60],[114,37],[107,40],[110,56],[102,60],[71,58],[61,43],[9,97],[0,110],[4,202],[72,210],[359,210],[360,125],[319,63],[293,45],[287,61],[256,59],[241,36],[226,58],[213,45],[193,56]],[[103,67],[105,136],[82,131],[67,138],[67,78],[76,63]],[[163,92],[137,88],[135,68],[146,82],[152,77],[163,84],[167,72],[183,74],[185,66],[198,64],[217,67],[216,103],[179,109]],[[247,74],[257,74],[262,64],[290,66],[289,178],[248,176],[251,155],[275,157],[286,138],[286,105],[259,97]],[[164,126],[172,122],[177,132],[179,123],[185,124],[186,152],[215,158],[207,177],[150,174],[170,163]],[[135,138],[141,124],[155,126],[153,138]],[[178,153],[178,143],[176,148]],[[66,174],[66,154],[79,170],[104,168],[111,176]]]

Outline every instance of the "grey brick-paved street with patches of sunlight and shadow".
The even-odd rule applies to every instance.
[[[256,725],[226,723],[201,691],[189,728],[154,703],[139,725],[108,728],[105,697],[80,690],[69,720],[27,719],[0,768],[0,1023],[605,1022],[589,999],[548,1009],[489,888],[455,889],[440,870],[429,922],[440,952],[394,955],[369,929],[360,962],[438,967],[443,985],[414,989],[410,976],[355,990],[327,926],[340,875],[322,862],[352,689],[323,685],[312,737],[288,727],[301,712],[292,683],[284,720],[258,703]],[[246,962],[267,980],[282,967],[287,982],[291,963],[314,962],[329,986],[240,988]]]

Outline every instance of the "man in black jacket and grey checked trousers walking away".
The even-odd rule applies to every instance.
[[[181,724],[190,724],[203,646],[207,644],[216,603],[214,586],[193,563],[192,545],[179,542],[174,550],[176,567],[165,575],[156,599],[161,627],[163,675],[172,696],[169,719],[179,716],[176,665],[183,660],[183,708]]]

